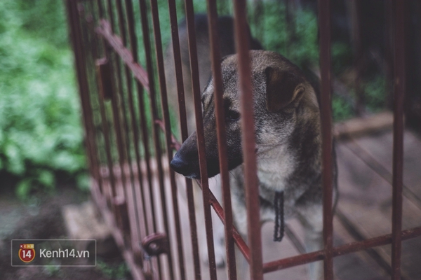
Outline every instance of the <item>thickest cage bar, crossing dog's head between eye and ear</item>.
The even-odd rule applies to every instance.
[[[246,1],[234,1],[235,41],[238,54],[239,90],[241,104],[241,138],[246,188],[248,246],[250,247],[250,277],[263,279],[262,237],[260,230],[260,201],[255,155],[255,124],[253,84],[251,81]],[[253,127],[253,129],[250,129]]]

